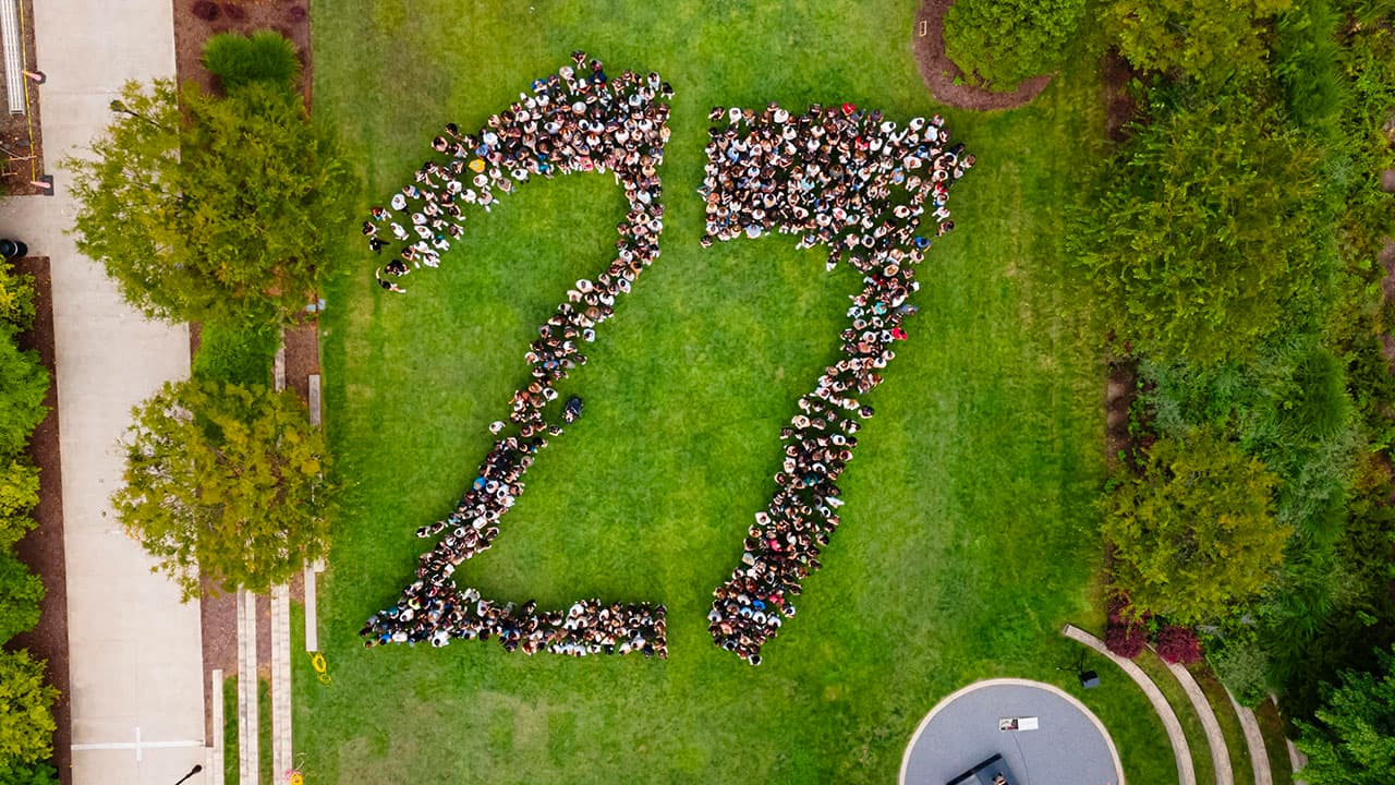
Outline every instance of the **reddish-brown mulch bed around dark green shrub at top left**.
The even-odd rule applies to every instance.
[[[212,20],[194,14],[198,0],[174,0],[174,73],[180,82],[194,81],[213,92],[213,75],[204,68],[204,45],[220,32],[248,34],[273,29],[294,42],[300,50],[300,92],[310,106],[314,73],[310,57],[310,0],[241,0],[209,3],[216,8]]]

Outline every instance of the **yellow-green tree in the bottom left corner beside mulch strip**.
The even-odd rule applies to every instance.
[[[0,767],[27,767],[53,754],[53,701],[43,661],[0,650]]]

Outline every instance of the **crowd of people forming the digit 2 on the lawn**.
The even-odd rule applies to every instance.
[[[368,617],[360,630],[365,645],[442,647],[492,637],[525,654],[667,655],[663,605],[582,599],[544,612],[531,601],[515,605],[460,589],[455,573],[490,548],[523,493],[529,467],[550,437],[582,415],[582,399],[557,402],[555,386],[586,363],[582,346],[596,339],[597,327],[658,257],[664,207],[657,169],[668,141],[671,96],[656,73],[610,75],[600,60],[573,52],[571,64],[536,80],[478,130],[462,133],[448,124],[432,140],[432,159],[386,207],[371,210],[363,233],[374,253],[392,256],[377,272],[379,285],[400,293],[392,278],[453,261],[445,254],[463,235],[467,214],[491,211],[525,183],[573,172],[611,173],[629,204],[615,258],[594,279],[578,281],[538,327],[525,353],[529,376],[513,392],[506,418],[490,426],[495,434],[490,453],[455,510],[417,529],[418,536],[438,538],[435,546],[418,559],[399,599]]]

